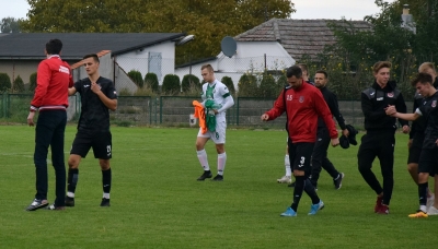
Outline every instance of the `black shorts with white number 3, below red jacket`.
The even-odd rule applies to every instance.
[[[289,142],[289,161],[292,170],[304,171],[306,176],[310,175],[310,161],[313,153],[314,143],[290,143]]]

